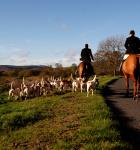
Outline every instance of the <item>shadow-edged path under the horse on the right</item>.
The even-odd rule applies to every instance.
[[[132,86],[130,92],[132,94]],[[136,103],[132,97],[125,97],[123,78],[108,85],[104,96],[114,119],[120,122],[122,138],[132,144],[134,150],[140,150],[140,98]]]

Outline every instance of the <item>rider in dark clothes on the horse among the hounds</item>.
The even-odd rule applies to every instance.
[[[94,60],[91,49],[88,48],[88,44],[85,44],[85,48],[81,50],[81,61],[84,61],[87,63],[90,71],[90,76],[95,75],[93,65],[91,60]]]

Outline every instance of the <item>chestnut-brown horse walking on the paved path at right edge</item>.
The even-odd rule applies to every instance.
[[[139,54],[131,54],[122,64],[122,72],[125,78],[127,96],[129,95],[129,78],[133,81],[133,100],[135,100],[138,97],[140,81],[139,57]]]

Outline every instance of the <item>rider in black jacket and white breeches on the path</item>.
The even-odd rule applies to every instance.
[[[131,30],[129,34],[130,36],[126,38],[126,41],[124,44],[124,47],[126,48],[126,52],[120,64],[120,71],[121,71],[123,62],[129,56],[129,54],[140,54],[140,39],[135,36],[134,30]]]

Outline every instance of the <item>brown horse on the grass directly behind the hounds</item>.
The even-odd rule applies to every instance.
[[[78,65],[78,76],[80,79],[84,78],[85,81],[89,79],[89,77],[91,76],[90,67],[91,66],[89,62],[86,61],[80,62],[80,64]]]

